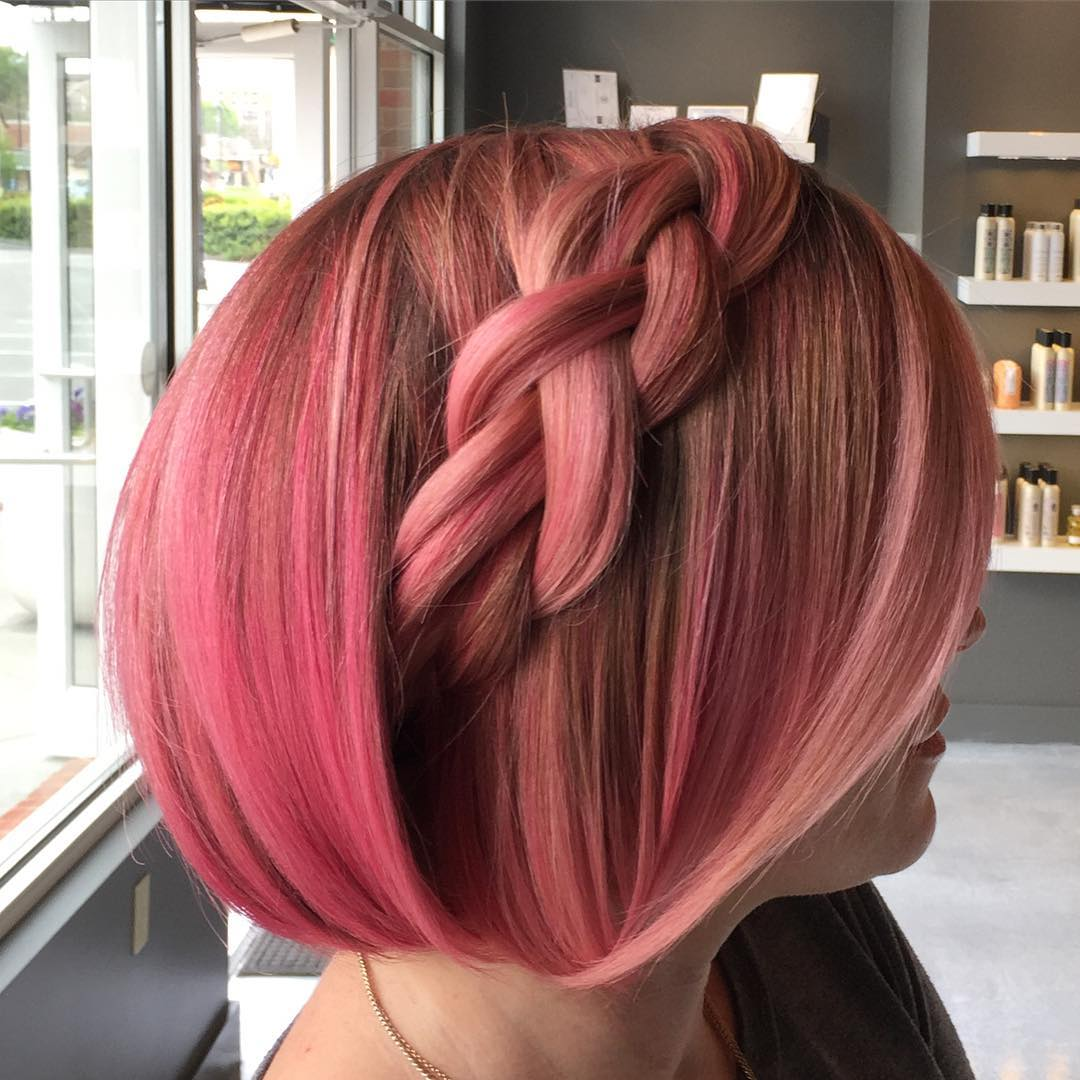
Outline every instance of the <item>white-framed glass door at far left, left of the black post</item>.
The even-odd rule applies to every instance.
[[[164,357],[159,15],[0,2],[0,869],[122,748],[95,607]]]

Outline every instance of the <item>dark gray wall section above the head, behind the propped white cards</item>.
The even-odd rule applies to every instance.
[[[617,71],[624,116],[626,103],[753,106],[762,71],[819,71],[818,163],[885,207],[891,3],[483,0],[467,21],[469,127],[563,120],[564,67]]]

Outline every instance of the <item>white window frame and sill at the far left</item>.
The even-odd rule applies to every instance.
[[[18,463],[66,469],[72,461],[94,462],[99,582],[120,490],[164,388],[170,354],[171,297],[162,287],[168,280],[167,19],[165,0],[87,0],[87,8],[94,234],[125,238],[123,244],[93,247],[92,372],[98,386],[108,380],[114,392],[96,395],[92,456],[39,454]],[[107,78],[95,79],[102,70]],[[96,699],[90,713],[93,759],[0,839],[0,940],[140,801],[141,767],[118,733],[103,691],[100,658],[97,674],[96,687],[67,688]],[[65,717],[60,720],[64,725]]]

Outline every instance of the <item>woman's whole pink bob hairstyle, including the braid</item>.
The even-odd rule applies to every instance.
[[[258,923],[612,985],[920,737],[998,460],[943,286],[766,133],[480,129],[316,202],[199,335],[106,691]]]

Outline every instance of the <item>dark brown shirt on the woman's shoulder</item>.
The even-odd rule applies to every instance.
[[[717,960],[735,1037],[758,1080],[975,1080],[948,1012],[872,881],[762,904]]]

